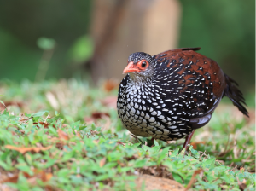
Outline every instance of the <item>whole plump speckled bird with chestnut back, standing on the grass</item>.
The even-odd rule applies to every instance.
[[[238,84],[216,61],[196,52],[172,49],[158,55],[132,53],[119,84],[117,111],[134,136],[162,141],[185,138],[205,126],[224,96],[249,117]]]

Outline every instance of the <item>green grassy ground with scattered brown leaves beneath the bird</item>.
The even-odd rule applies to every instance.
[[[197,171],[193,190],[240,190],[243,181],[245,190],[256,189],[256,125],[235,107],[219,106],[211,123],[195,131],[193,142],[204,143],[183,157],[183,140],[152,146],[142,138],[147,142],[142,145],[122,127],[115,108],[104,104],[117,90],[92,89],[70,79],[2,81],[0,92],[0,100],[9,103],[0,115],[0,182],[8,180],[4,185],[11,188],[136,190],[140,173],[186,187]],[[110,117],[86,124],[95,112]]]

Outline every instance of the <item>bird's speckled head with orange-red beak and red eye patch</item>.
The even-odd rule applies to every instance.
[[[132,53],[129,55],[128,64],[123,73],[129,73],[136,81],[152,77],[154,73],[152,56],[144,52]]]

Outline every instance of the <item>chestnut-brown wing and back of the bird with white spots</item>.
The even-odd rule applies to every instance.
[[[168,96],[177,103],[174,109],[189,114],[193,128],[211,119],[226,86],[218,63],[196,53],[199,49],[173,49],[154,55],[154,70],[160,73],[155,77],[168,75],[169,85],[161,88],[171,90]],[[170,104],[170,108],[173,106]]]

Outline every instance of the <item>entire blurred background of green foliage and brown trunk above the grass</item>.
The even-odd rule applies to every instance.
[[[0,79],[121,80],[132,52],[201,47],[256,107],[256,1],[0,0]]]

